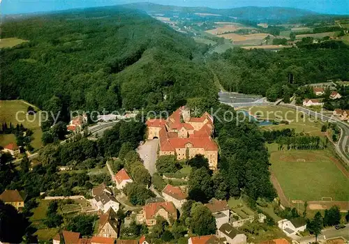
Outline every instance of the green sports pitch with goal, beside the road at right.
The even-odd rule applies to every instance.
[[[270,162],[283,192],[291,200],[332,197],[336,201],[348,201],[348,178],[330,157],[333,156],[328,150],[272,151]]]

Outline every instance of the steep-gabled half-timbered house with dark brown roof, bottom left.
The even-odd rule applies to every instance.
[[[117,238],[119,232],[119,224],[117,214],[112,208],[107,213],[102,214],[99,218],[99,227],[97,236]]]

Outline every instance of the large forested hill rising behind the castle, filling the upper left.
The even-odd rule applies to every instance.
[[[211,73],[195,57],[205,45],[137,10],[89,8],[6,22],[0,98],[43,109],[109,112],[172,109],[216,98]]]

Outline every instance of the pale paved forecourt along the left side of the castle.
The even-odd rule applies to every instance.
[[[144,167],[152,176],[156,172],[155,162],[158,154],[158,139],[147,140],[143,145],[138,146],[140,158],[144,161]]]

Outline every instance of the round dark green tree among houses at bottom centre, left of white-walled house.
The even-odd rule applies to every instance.
[[[216,219],[209,208],[201,203],[196,203],[191,208],[191,220],[189,228],[198,236],[216,233]]]

